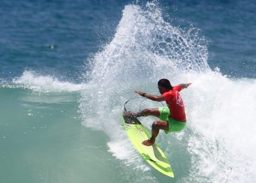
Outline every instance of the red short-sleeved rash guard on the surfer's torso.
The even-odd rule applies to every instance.
[[[179,91],[181,91],[181,86],[177,85],[174,86],[172,90],[162,94],[170,109],[171,118],[176,121],[182,121],[186,118],[184,104]]]

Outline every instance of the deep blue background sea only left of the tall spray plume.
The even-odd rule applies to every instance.
[[[77,81],[86,58],[113,36],[127,3],[3,1],[0,78],[32,69]]]

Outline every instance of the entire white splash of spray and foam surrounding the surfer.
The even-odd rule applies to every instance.
[[[79,99],[83,125],[106,132],[109,152],[133,167],[127,168],[128,174],[140,177],[137,170],[149,172],[149,168],[120,125],[123,103],[137,96],[133,90],[158,95],[160,78],[173,85],[191,82],[181,92],[186,129],[168,136],[161,132],[157,139],[174,173],[181,174],[177,182],[255,180],[256,80],[227,78],[218,68],[212,71],[207,59],[207,43],[196,28],[184,31],[172,26],[156,2],[127,5],[112,41],[94,55],[92,70],[84,75],[90,81]],[[139,110],[140,102],[130,102],[130,110]],[[149,100],[142,104],[157,106]],[[154,120],[141,119],[148,129]],[[154,176],[147,173],[147,179]]]

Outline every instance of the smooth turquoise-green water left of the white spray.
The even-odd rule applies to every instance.
[[[99,172],[108,182],[116,177],[106,171],[115,169],[114,157],[104,153],[108,137],[81,128],[76,93],[1,93],[1,182],[101,182]]]

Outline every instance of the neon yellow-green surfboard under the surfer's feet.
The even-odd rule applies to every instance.
[[[171,165],[157,142],[153,146],[144,146],[141,143],[151,137],[151,134],[141,122],[137,118],[124,117],[122,113],[122,124],[131,142],[143,159],[164,175],[174,177]]]

